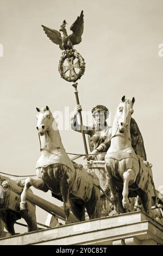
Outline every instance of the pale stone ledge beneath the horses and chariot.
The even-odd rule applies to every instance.
[[[163,245],[163,226],[142,212],[62,225],[0,239],[0,245]]]

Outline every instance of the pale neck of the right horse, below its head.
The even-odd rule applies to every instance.
[[[116,115],[112,125],[110,148],[117,150],[132,148],[130,139],[130,122],[127,129],[122,133],[118,130],[118,120]]]

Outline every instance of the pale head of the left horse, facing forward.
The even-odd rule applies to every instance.
[[[54,121],[52,112],[49,110],[48,106],[43,108],[37,108],[38,114],[36,115],[37,118],[37,131],[39,132],[40,136],[45,134],[45,131],[49,131],[52,128],[52,124]]]

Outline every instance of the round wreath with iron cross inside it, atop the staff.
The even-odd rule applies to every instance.
[[[74,49],[64,51],[62,57],[60,58],[58,69],[61,77],[66,81],[76,82],[81,76],[84,75],[84,58]]]

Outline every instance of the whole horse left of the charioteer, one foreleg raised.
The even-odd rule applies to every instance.
[[[90,219],[101,217],[99,180],[91,170],[73,163],[61,142],[57,123],[48,106],[36,108],[37,131],[41,157],[36,163],[36,178],[27,178],[21,194],[20,208],[26,208],[26,192],[30,186],[47,192],[64,202],[66,220],[73,214],[85,220],[85,208]],[[52,125],[53,124],[53,125]]]

